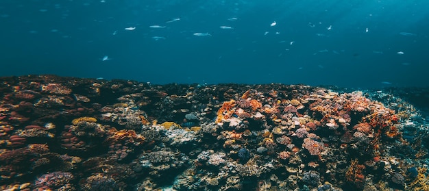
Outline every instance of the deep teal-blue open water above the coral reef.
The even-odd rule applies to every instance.
[[[424,0],[2,0],[0,75],[428,86],[428,8]]]

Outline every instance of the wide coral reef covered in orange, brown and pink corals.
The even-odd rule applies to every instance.
[[[392,94],[0,82],[0,190],[429,190],[428,127]]]

